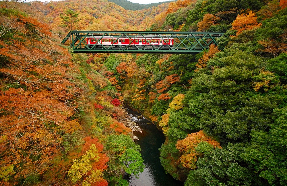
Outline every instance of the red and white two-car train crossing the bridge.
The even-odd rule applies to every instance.
[[[88,47],[93,47],[94,45],[96,45],[94,48],[102,48],[102,45],[105,47],[110,47],[110,45],[112,45],[111,48],[116,49],[119,48],[119,46],[123,48],[129,45],[128,48],[131,49],[169,49],[172,48],[174,42],[173,38],[161,37],[120,37],[118,39],[117,37],[103,37],[102,39],[100,38],[101,37],[86,37]]]

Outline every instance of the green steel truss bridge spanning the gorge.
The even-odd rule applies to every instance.
[[[216,38],[224,36],[223,32],[174,32],[174,31],[70,31],[61,42],[73,48],[75,53],[158,53],[158,54],[190,54],[202,52]],[[97,44],[87,43],[87,38]],[[102,39],[110,39],[103,43]],[[118,39],[126,38],[126,45],[118,44]],[[136,45],[132,38],[142,38],[147,43],[152,39],[173,40],[173,45]]]

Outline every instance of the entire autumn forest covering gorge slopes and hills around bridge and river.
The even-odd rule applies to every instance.
[[[129,185],[126,113],[162,130],[189,185],[286,185],[287,1],[0,1],[0,185]],[[68,31],[220,31],[199,54],[73,54]]]

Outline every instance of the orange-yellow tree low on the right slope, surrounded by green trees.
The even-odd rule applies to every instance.
[[[196,152],[195,148],[200,142],[207,142],[213,145],[214,148],[220,147],[220,144],[213,138],[206,136],[202,130],[199,132],[188,134],[183,140],[177,141],[176,148],[180,151],[180,161],[183,167],[195,169],[197,157],[199,153]]]

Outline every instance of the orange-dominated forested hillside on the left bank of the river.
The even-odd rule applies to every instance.
[[[117,90],[49,25],[0,20],[0,185],[128,185],[144,165]]]

